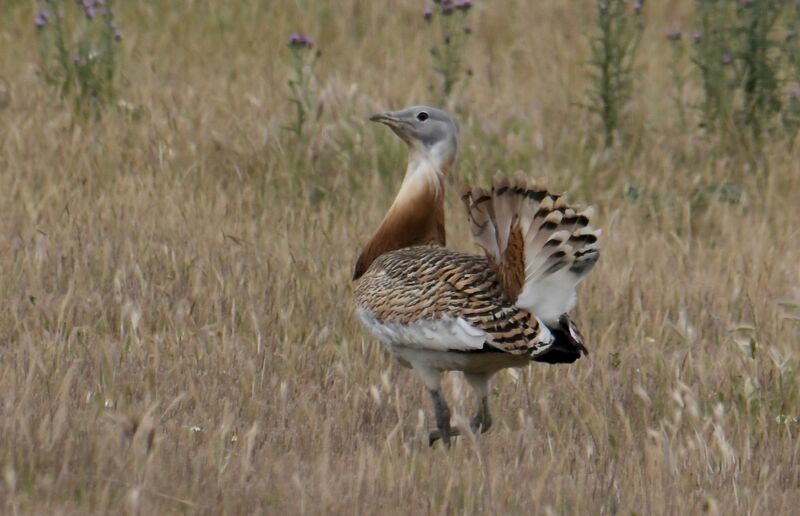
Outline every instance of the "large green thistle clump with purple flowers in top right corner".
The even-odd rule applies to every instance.
[[[777,120],[793,125],[791,88],[800,79],[796,21],[792,2],[695,0],[691,62],[700,78],[704,127],[759,145]]]

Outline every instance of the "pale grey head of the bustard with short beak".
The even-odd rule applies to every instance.
[[[447,172],[456,159],[458,128],[441,109],[414,106],[373,115],[370,120],[388,125],[406,142],[411,160],[430,160],[436,168]]]

